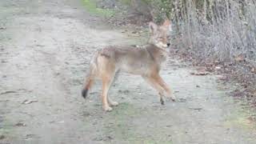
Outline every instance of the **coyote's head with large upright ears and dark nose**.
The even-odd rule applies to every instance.
[[[149,43],[159,48],[165,49],[170,46],[170,21],[167,19],[162,26],[150,22],[150,40]]]

